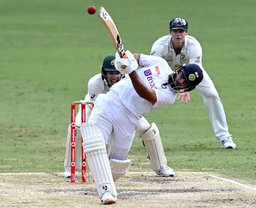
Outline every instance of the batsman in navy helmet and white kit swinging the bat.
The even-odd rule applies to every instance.
[[[173,104],[177,92],[193,90],[203,78],[201,67],[196,64],[172,72],[160,57],[132,55],[129,51],[126,54],[125,59],[116,53],[115,68],[129,76],[112,86],[107,94],[97,97],[88,122],[80,128],[88,165],[104,205],[117,201],[114,180],[128,170],[127,155],[141,118],[152,110]],[[142,68],[137,70],[138,63]],[[154,152],[160,145],[156,125],[152,123],[144,135],[146,148]],[[157,156],[159,152],[154,154]]]

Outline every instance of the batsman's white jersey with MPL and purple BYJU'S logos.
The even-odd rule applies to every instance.
[[[165,60],[141,54],[139,65],[144,67],[137,70],[138,76],[148,88],[156,91],[157,101],[154,105],[137,94],[129,76],[125,76],[123,80],[112,86],[107,93],[107,95],[122,101],[124,106],[137,118],[141,118],[157,108],[173,104],[176,98],[176,93],[173,93],[168,86],[162,86],[168,81],[168,75],[172,73]]]

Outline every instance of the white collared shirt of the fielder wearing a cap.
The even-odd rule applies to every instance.
[[[171,44],[171,35],[163,36],[153,43],[151,48],[152,56],[159,56],[165,59],[168,65],[175,70],[184,63],[197,63],[202,65],[202,47],[196,38],[192,36],[185,37],[185,44],[181,52],[176,54]]]

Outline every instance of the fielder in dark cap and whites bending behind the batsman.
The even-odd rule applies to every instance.
[[[151,49],[152,56],[164,58],[168,65],[175,69],[184,63],[198,63],[202,66],[202,48],[200,43],[192,36],[188,36],[188,23],[183,18],[174,18],[170,22],[170,34],[157,39]],[[196,86],[196,91],[204,100],[211,126],[218,141],[222,142],[222,148],[235,148],[226,123],[223,105],[214,83],[202,68],[204,80]],[[180,93],[177,100],[181,102],[190,100],[189,93]]]

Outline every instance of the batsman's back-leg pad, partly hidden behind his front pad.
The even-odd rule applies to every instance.
[[[109,160],[110,168],[112,171],[113,180],[116,181],[119,177],[124,176],[128,173],[131,160]]]

